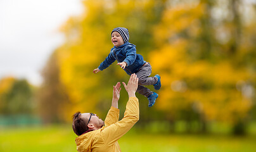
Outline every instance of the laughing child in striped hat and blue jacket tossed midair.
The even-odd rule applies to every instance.
[[[99,65],[98,68],[93,70],[93,73],[98,73],[110,66],[115,60],[118,61],[117,65],[129,75],[136,73],[139,78],[139,86],[137,92],[143,94],[148,98],[148,106],[151,107],[155,104],[155,100],[158,98],[158,94],[150,91],[150,89],[143,85],[154,85],[156,90],[161,87],[160,75],[155,77],[149,77],[151,74],[150,63],[143,60],[141,54],[136,54],[136,46],[129,43],[129,31],[124,27],[114,28],[111,32],[113,48],[110,50],[110,54]]]

